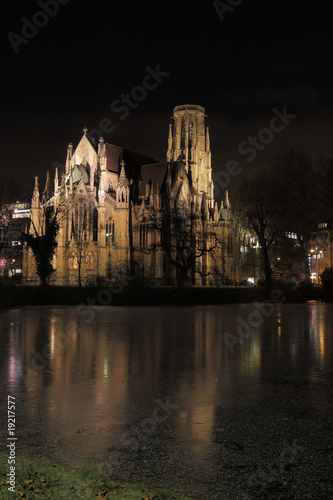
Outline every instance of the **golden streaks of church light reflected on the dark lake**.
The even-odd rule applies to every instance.
[[[311,382],[332,367],[331,305],[277,305],[241,339],[238,318],[253,309],[103,308],[90,324],[75,307],[2,312],[1,380],[20,402],[24,444],[30,428],[45,428],[44,453],[71,464],[102,459],[169,398],[177,409],[163,423],[166,456],[181,446],[189,467],[207,457],[225,431],[221,412],[260,402],[267,380]],[[225,332],[238,338],[233,349]]]

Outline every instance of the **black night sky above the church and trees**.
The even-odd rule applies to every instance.
[[[233,0],[221,20],[210,1],[62,0],[21,43],[25,20],[45,22],[36,17],[42,3],[2,6],[3,175],[43,182],[53,162],[64,163],[68,142],[103,119],[115,127],[108,142],[164,160],[180,104],[206,108],[216,173],[229,160],[243,173],[268,165],[291,146],[333,156],[330,2]],[[121,119],[112,103],[158,65],[168,76]],[[284,107],[297,118],[249,162],[239,145]]]

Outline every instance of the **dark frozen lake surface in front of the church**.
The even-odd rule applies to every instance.
[[[197,498],[333,499],[333,305],[0,313],[17,453]]]

